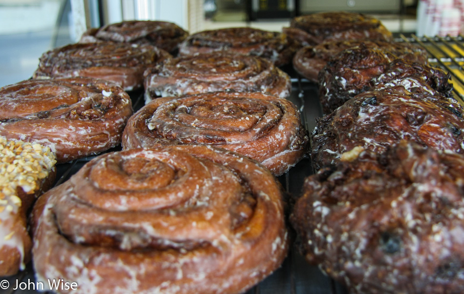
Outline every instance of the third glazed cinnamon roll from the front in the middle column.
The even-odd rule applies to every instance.
[[[266,59],[233,52],[169,59],[145,72],[145,97],[182,96],[233,90],[290,95],[290,77]]]

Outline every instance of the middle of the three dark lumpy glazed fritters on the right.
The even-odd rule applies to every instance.
[[[317,120],[313,164],[337,163],[356,147],[383,153],[408,139],[434,149],[464,153],[464,110],[417,79],[379,84]],[[358,149],[359,150],[359,149]]]

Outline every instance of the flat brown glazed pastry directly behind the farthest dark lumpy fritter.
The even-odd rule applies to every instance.
[[[359,47],[361,44],[368,48],[378,48],[382,51],[392,52],[399,59],[422,64],[427,62],[427,51],[412,43],[380,40],[342,40],[301,48],[293,58],[293,66],[301,76],[317,83],[319,71],[324,68],[332,57],[345,49]]]

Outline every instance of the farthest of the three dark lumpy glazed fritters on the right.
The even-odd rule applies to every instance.
[[[319,72],[319,100],[328,114],[357,94],[378,83],[413,77],[433,87],[447,97],[452,97],[453,85],[449,74],[440,68],[399,59],[398,55],[381,47],[346,49],[330,59]]]

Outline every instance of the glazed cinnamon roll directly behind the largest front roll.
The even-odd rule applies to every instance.
[[[299,112],[287,99],[259,92],[214,92],[157,98],[127,122],[123,148],[206,144],[261,162],[275,175],[308,146]]]

